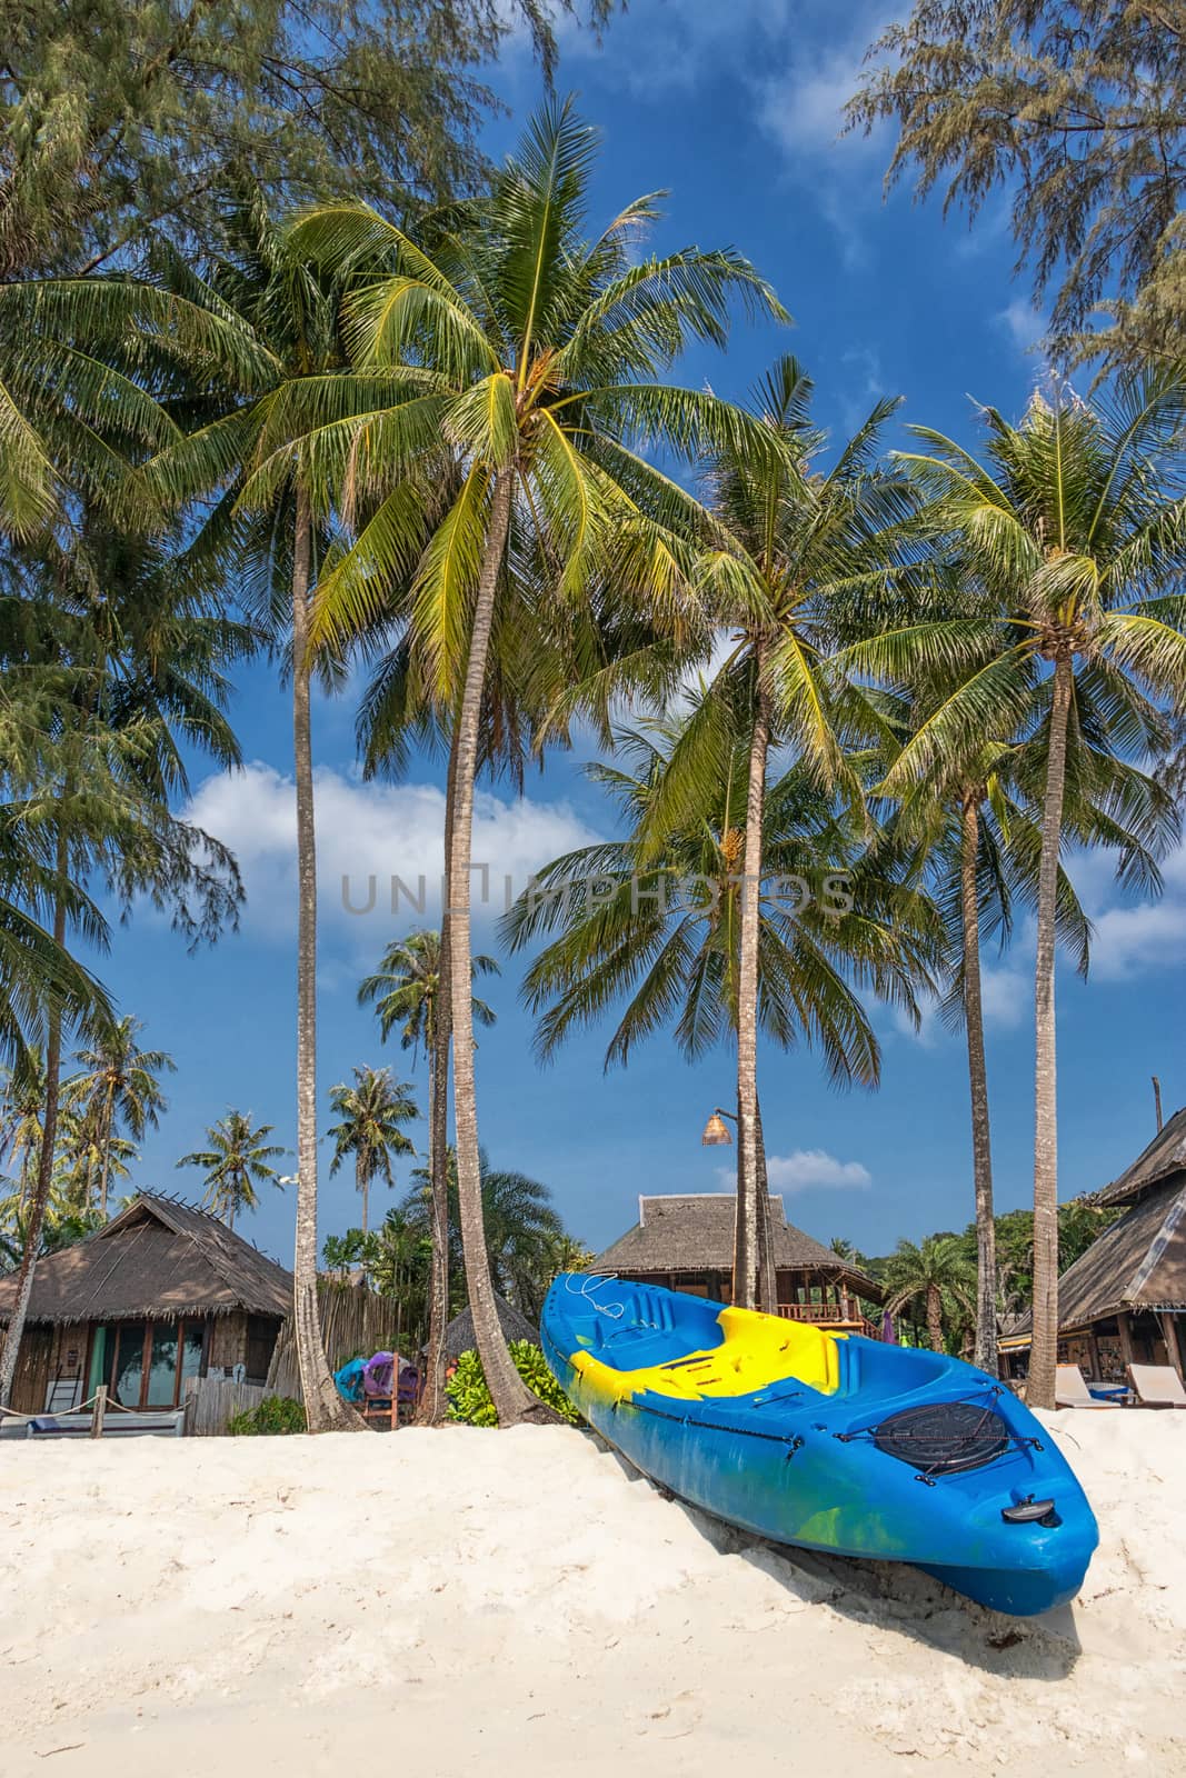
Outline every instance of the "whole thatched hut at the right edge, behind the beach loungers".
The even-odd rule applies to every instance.
[[[1186,1106],[1129,1168],[1099,1193],[1127,1205],[1058,1280],[1058,1358],[1104,1383],[1129,1364],[1172,1364],[1186,1374]],[[1024,1362],[1033,1321],[1001,1341]]]

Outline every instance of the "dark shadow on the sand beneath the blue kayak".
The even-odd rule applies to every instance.
[[[1083,1648],[1070,1606],[1047,1611],[1042,1618],[1010,1618],[976,1606],[909,1563],[859,1561],[770,1543],[699,1506],[688,1506],[635,1469],[599,1433],[592,1438],[628,1481],[663,1495],[672,1511],[683,1513],[718,1554],[740,1556],[761,1568],[802,1604],[829,1606],[855,1623],[909,1636],[999,1678],[1063,1680],[1074,1671]]]

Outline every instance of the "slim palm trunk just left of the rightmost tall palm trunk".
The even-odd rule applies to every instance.
[[[960,905],[964,921],[964,1028],[967,1081],[973,1108],[973,1181],[976,1186],[976,1364],[996,1376],[996,1223],[992,1221],[992,1138],[989,1125],[989,1069],[980,983],[980,802],[964,797],[960,816]]]

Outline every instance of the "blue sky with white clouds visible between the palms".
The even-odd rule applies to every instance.
[[[818,386],[818,416],[852,428],[882,393],[905,395],[905,421],[971,441],[973,402],[1010,414],[1038,373],[1030,348],[1040,332],[1024,281],[1012,277],[1005,208],[990,206],[973,233],[937,203],[909,194],[882,201],[885,142],[837,140],[839,105],[852,91],[878,7],[820,0],[633,0],[597,50],[564,32],[560,89],[580,94],[605,133],[596,206],[665,187],[656,245],[733,244],[772,279],[793,331],[740,325],[727,356],[683,366],[741,398],[782,350],[795,350]],[[514,116],[489,130],[493,153],[514,139],[537,103],[539,80],[512,46],[496,85]],[[898,432],[896,441],[902,439]],[[176,1172],[180,1154],[228,1106],[295,1141],[293,933],[295,864],[286,693],[256,667],[242,676],[233,718],[249,766],[238,777],[196,773],[194,816],[240,857],[249,907],[238,935],[197,958],[153,916],[137,916],[101,965],[123,1008],[146,1021],[146,1042],[178,1063],[169,1111],[144,1143],[135,1182],[197,1195]],[[439,871],[441,788],[432,763],[402,786],[363,786],[354,766],[349,699],[317,708],[322,992],[320,1086],[357,1063],[407,1070],[384,1053],[372,1015],[356,1006],[357,978],[414,916],[391,916],[382,885]],[[608,811],[583,782],[583,754],[557,757],[514,804],[491,788],[478,811],[475,855],[498,880],[523,884],[533,866],[583,837],[608,832]],[[341,907],[341,877],[365,893],[381,882],[370,916]],[[1159,905],[1126,903],[1102,859],[1076,866],[1095,916],[1092,981],[1060,980],[1060,1109],[1063,1195],[1111,1179],[1152,1134],[1150,1074],[1166,1109],[1186,1099],[1182,983],[1186,855],[1166,866]],[[493,948],[493,921],[477,942]],[[992,960],[989,1065],[1001,1209],[1022,1205],[1031,1179],[1031,951],[1026,935]],[[628,1072],[603,1076],[608,1031],[580,1038],[541,1072],[530,1021],[517,1005],[519,965],[505,964],[487,997],[498,1028],[482,1037],[477,1070],[480,1129],[494,1165],[546,1181],[576,1234],[601,1246],[635,1220],[640,1191],[711,1191],[733,1150],[702,1149],[708,1111],[733,1097],[731,1054],[686,1067],[667,1038],[635,1053]],[[898,1236],[962,1227],[973,1214],[967,1088],[962,1038],[926,1022],[921,1037],[877,1012],[884,1044],[877,1093],[837,1095],[809,1051],[761,1056],[770,1173],[793,1221],[821,1239],[846,1234],[868,1252]],[[427,1083],[423,1067],[420,1086]],[[329,1115],[325,1115],[329,1122]],[[423,1131],[414,1133],[423,1140]],[[327,1150],[324,1149],[327,1166]],[[286,1163],[292,1170],[295,1163]],[[283,1259],[292,1253],[290,1193],[268,1193],[249,1225]],[[322,1230],[356,1220],[349,1175],[322,1172]]]

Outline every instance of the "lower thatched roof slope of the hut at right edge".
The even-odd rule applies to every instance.
[[[1186,1184],[1166,1181],[1134,1204],[1058,1280],[1058,1325],[1127,1309],[1186,1312]],[[1015,1332],[1028,1334],[1024,1316]]]

